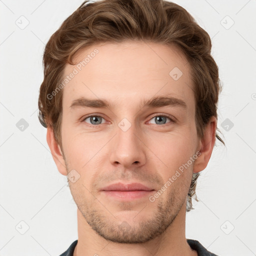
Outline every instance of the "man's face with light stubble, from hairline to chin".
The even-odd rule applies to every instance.
[[[90,54],[94,49],[98,53]],[[144,42],[93,45],[79,52],[76,63],[87,54],[94,57],[84,67],[78,65],[81,70],[65,67],[65,75],[78,70],[63,88],[62,101],[70,191],[99,235],[115,242],[144,242],[185,209],[193,161],[183,171],[179,167],[198,150],[189,64],[173,46]],[[182,100],[186,107],[162,104],[174,102],[166,99],[143,106],[159,96]],[[82,97],[110,105],[82,106],[84,101],[77,101]],[[141,183],[151,191],[102,190],[117,182]]]

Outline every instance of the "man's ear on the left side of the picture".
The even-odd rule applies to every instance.
[[[63,154],[61,152],[59,144],[57,144],[55,140],[54,133],[51,127],[47,127],[46,140],[58,171],[63,175],[67,175],[65,161],[62,156]]]

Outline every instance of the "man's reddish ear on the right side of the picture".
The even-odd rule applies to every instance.
[[[217,126],[217,119],[215,116],[211,116],[207,126],[204,130],[203,138],[199,142],[197,159],[194,162],[193,173],[197,173],[206,168],[210,159],[213,146],[215,144],[215,131]]]

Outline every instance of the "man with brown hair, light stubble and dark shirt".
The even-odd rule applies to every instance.
[[[44,51],[39,120],[77,205],[61,255],[215,255],[185,237],[216,135],[211,43],[163,0],[83,2]]]

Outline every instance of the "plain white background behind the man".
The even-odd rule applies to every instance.
[[[44,46],[81,2],[0,0],[1,256],[59,255],[77,239],[76,205],[50,154],[37,100]],[[223,84],[218,127],[226,147],[217,142],[201,171],[186,237],[217,255],[256,255],[256,1],[174,2],[212,38]]]

